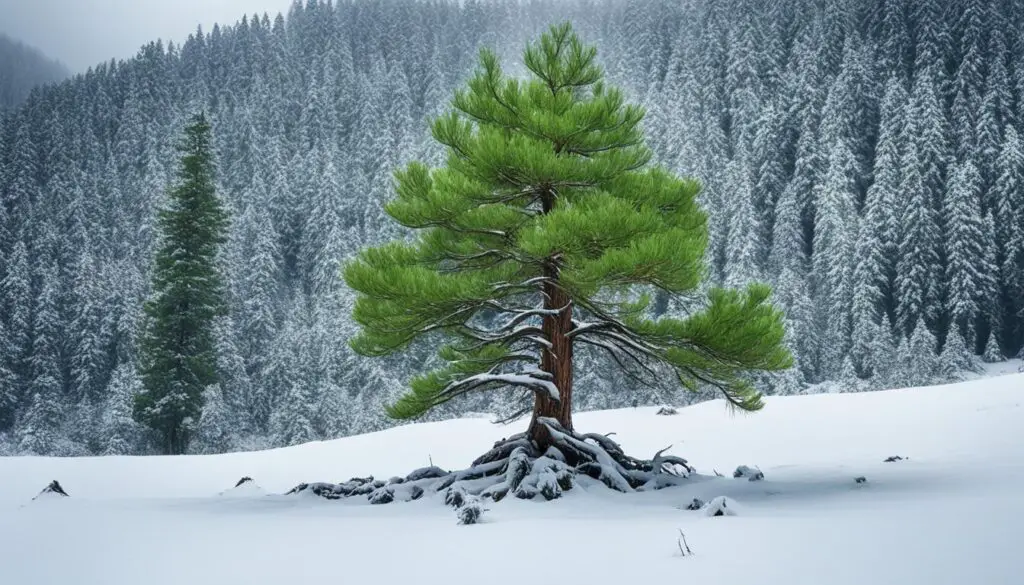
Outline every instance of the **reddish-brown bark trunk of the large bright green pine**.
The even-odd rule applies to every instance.
[[[545,213],[554,208],[554,200],[553,192],[548,192],[542,198]],[[551,444],[551,433],[546,426],[537,423],[538,418],[553,418],[566,430],[572,430],[572,340],[566,336],[572,330],[572,306],[569,304],[569,296],[558,287],[558,262],[556,255],[550,259],[545,269],[549,282],[544,285],[544,308],[559,312],[544,318],[544,337],[551,342],[551,347],[541,353],[541,370],[551,374],[551,379],[558,388],[559,400],[553,400],[545,392],[536,392],[534,416],[527,430],[529,437],[542,451]]]

